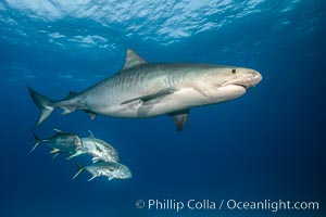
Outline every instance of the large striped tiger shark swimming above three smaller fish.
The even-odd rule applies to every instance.
[[[82,92],[71,92],[53,101],[28,87],[40,110],[34,129],[54,108],[64,115],[82,110],[122,118],[170,115],[183,130],[191,107],[233,100],[262,80],[259,72],[236,66],[198,63],[151,63],[128,49],[123,67],[115,75]]]

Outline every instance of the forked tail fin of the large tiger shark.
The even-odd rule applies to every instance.
[[[45,119],[48,118],[48,116],[52,113],[52,111],[54,110],[54,107],[51,105],[52,104],[52,100],[50,100],[49,98],[36,92],[35,90],[33,90],[29,86],[28,86],[28,91],[29,94],[34,101],[34,103],[38,106],[38,108],[40,110],[39,116],[37,122],[34,125],[34,129],[36,127],[38,127],[40,124],[42,124],[42,122],[45,122]]]

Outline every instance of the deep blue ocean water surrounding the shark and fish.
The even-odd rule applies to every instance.
[[[0,216],[323,216],[326,4],[322,0],[0,1]],[[58,128],[110,142],[133,179],[76,173],[75,161],[33,153],[38,110],[27,86],[52,99],[116,73],[126,49],[152,62],[259,71],[262,82],[227,103],[168,116],[95,120],[54,112]],[[210,200],[217,208],[138,209],[138,200]],[[222,200],[318,202],[318,210],[236,210]]]

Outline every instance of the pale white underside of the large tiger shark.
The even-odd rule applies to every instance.
[[[200,91],[192,87],[183,88],[162,99],[153,100],[152,102],[138,100],[128,104],[109,106],[103,108],[101,114],[123,118],[154,117],[190,107],[225,102],[238,98],[244,92],[244,88],[235,85],[205,89],[205,91]]]

